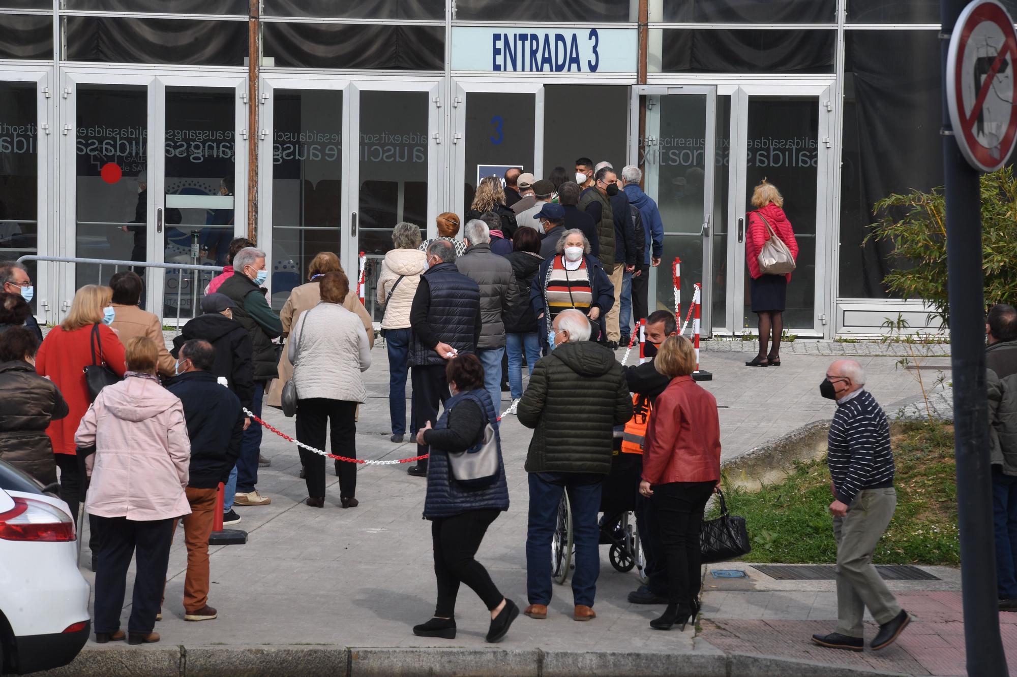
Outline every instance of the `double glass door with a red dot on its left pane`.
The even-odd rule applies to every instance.
[[[81,258],[138,263],[215,264],[229,240],[245,233],[245,110],[236,77],[69,72],[64,76],[64,204]],[[162,139],[149,155],[148,139]],[[224,244],[225,243],[225,244]],[[141,306],[164,322],[199,314],[211,273],[131,267],[145,283]],[[74,290],[109,283],[120,266],[66,266],[61,311]]]

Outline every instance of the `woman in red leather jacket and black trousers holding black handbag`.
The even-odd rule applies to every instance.
[[[700,609],[700,529],[720,480],[720,420],[717,401],[693,380],[696,351],[687,338],[664,341],[653,365],[671,382],[653,406],[639,486],[653,497],[667,566],[667,609],[650,626],[684,630]]]

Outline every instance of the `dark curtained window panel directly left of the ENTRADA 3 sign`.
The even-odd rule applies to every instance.
[[[443,70],[444,26],[264,23],[277,66]]]

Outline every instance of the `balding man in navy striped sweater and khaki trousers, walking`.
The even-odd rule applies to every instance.
[[[830,423],[827,465],[834,501],[833,534],[837,539],[837,629],[814,634],[830,649],[860,652],[861,618],[869,608],[880,630],[870,644],[879,650],[897,639],[910,622],[876,567],[873,552],[897,507],[893,488],[890,423],[866,390],[865,372],[853,360],[838,360],[827,369],[820,393],[837,401]]]

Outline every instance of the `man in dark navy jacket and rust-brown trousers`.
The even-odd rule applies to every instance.
[[[207,341],[188,341],[180,347],[179,376],[169,385],[170,392],[183,403],[191,442],[190,479],[185,490],[191,513],[183,517],[187,543],[184,620],[189,621],[217,616],[208,606],[208,536],[219,484],[226,482],[240,455],[244,432],[240,399],[208,371],[215,360],[216,350]]]

